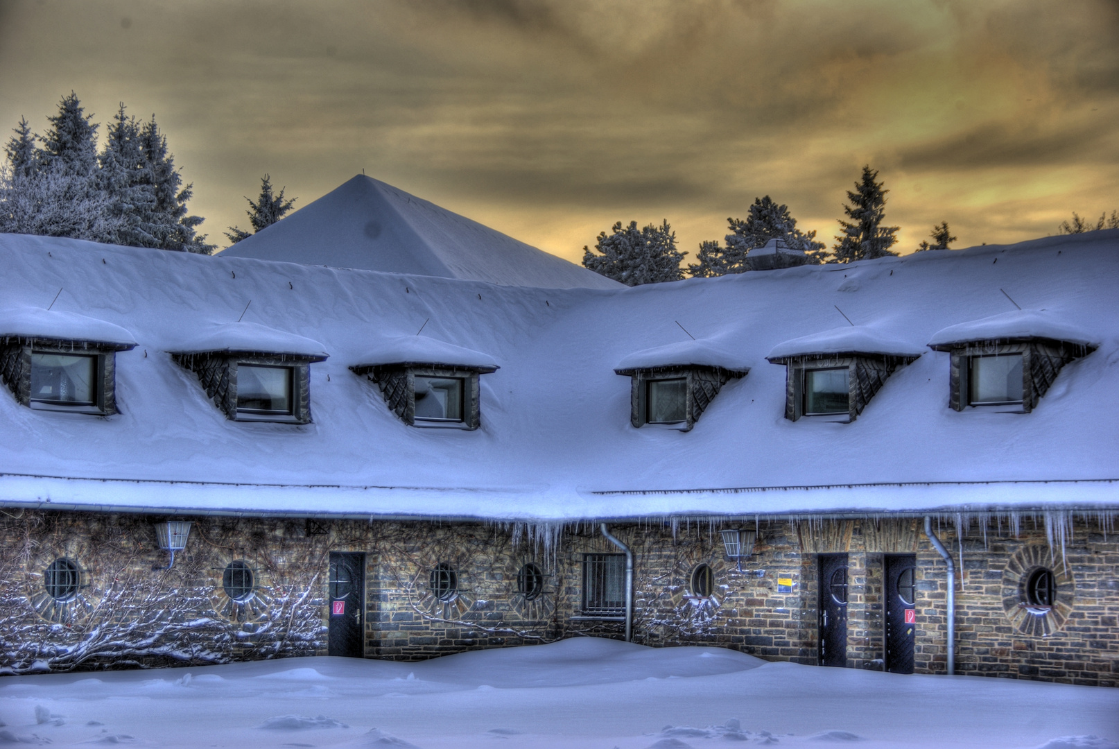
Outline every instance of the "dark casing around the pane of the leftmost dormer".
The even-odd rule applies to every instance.
[[[60,411],[110,416],[116,408],[116,352],[129,350],[132,345],[109,344],[95,340],[69,340],[41,337],[0,338],[0,378],[20,405],[36,411]],[[31,354],[81,354],[97,357],[96,402],[87,406],[67,406],[31,401]]]

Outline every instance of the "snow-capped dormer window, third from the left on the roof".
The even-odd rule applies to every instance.
[[[375,382],[389,410],[410,427],[478,429],[479,375],[497,371],[486,354],[426,336],[401,336],[350,369]]]

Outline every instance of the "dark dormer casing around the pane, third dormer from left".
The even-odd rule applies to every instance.
[[[479,375],[493,372],[489,367],[468,367],[453,364],[401,364],[355,365],[350,371],[375,382],[385,397],[385,403],[401,421],[408,427],[424,429],[474,430],[481,425],[481,388]],[[455,377],[462,380],[462,421],[424,421],[416,419],[415,378]]]

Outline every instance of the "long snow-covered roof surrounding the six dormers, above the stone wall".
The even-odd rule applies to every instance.
[[[43,306],[63,287],[55,310],[139,343],[116,355],[120,414],[36,411],[0,392],[0,503],[538,521],[1119,508],[1117,280],[1115,231],[614,291],[0,235],[6,306]],[[1000,289],[1100,346],[1027,414],[953,411],[950,355],[928,349],[852,423],[784,419],[783,368],[752,366],[692,431],[634,429],[630,383],[614,374],[634,352],[680,343],[680,326],[761,363],[835,328],[836,306],[920,348],[1005,311]],[[331,355],[310,365],[311,423],[229,421],[167,354],[243,312]],[[480,378],[478,430],[408,427],[349,369],[421,327],[500,363]]]

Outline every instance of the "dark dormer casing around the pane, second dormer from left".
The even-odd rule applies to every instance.
[[[307,424],[311,421],[310,365],[326,357],[261,352],[209,352],[171,354],[175,362],[198,375],[198,382],[215,405],[232,421]],[[237,411],[237,365],[286,366],[292,369],[291,415],[243,414]]]

